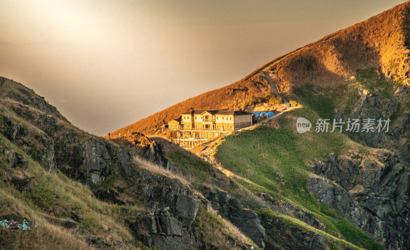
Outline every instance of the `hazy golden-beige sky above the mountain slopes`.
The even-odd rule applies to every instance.
[[[400,3],[2,0],[0,76],[106,135]]]

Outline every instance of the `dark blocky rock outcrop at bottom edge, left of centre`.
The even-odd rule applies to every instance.
[[[191,188],[146,170],[140,170],[135,181],[137,196],[154,211],[129,221],[141,240],[157,249],[198,249],[199,233],[192,223],[200,202],[192,198]]]

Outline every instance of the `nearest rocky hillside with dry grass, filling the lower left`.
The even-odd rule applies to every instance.
[[[249,238],[257,237],[202,203],[162,145],[141,134],[130,141],[90,135],[3,77],[0,170],[0,221],[39,222],[31,231],[0,228],[2,249],[257,248]],[[207,171],[207,181],[215,173],[229,183]],[[242,209],[237,215],[245,220]],[[251,221],[250,230],[260,225]]]

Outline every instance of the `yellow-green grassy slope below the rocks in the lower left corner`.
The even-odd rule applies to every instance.
[[[0,142],[4,147],[15,150],[30,159],[1,134]],[[28,173],[22,173],[33,178],[35,184],[30,192],[20,192],[6,182],[8,178],[11,178],[10,175],[15,175],[19,170],[14,171],[7,164],[0,164],[0,168],[2,174],[8,173],[9,175],[9,177],[2,176],[4,182],[0,183],[0,193],[2,197],[6,197],[2,198],[0,203],[0,216],[45,220],[44,227],[38,228],[38,231],[44,232],[33,233],[33,238],[27,236],[27,239],[20,239],[23,245],[27,244],[27,240],[35,240],[33,244],[40,247],[47,245],[50,241],[50,244],[58,246],[55,249],[69,249],[74,242],[75,244],[72,245],[78,246],[74,249],[85,249],[84,241],[75,238],[74,240],[71,234],[67,234],[62,227],[50,223],[49,218],[54,218],[56,221],[71,220],[67,211],[73,211],[83,217],[80,224],[84,226],[87,235],[101,237],[110,244],[117,241],[127,242],[132,239],[131,232],[125,226],[126,216],[120,213],[120,209],[121,207],[128,209],[131,216],[140,212],[142,210],[140,207],[102,202],[95,198],[85,185],[70,180],[61,173],[58,176],[47,173],[31,159]],[[2,235],[4,237],[4,234]],[[54,236],[49,238],[45,237],[46,235]],[[53,242],[54,238],[58,238],[57,242]],[[38,249],[37,247],[31,249]],[[127,245],[127,247],[135,249],[133,245]]]

